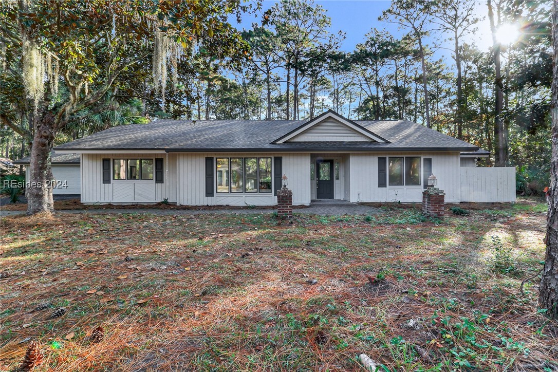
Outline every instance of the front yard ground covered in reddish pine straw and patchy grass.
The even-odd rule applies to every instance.
[[[0,370],[558,370],[544,204],[389,209],[3,218]]]

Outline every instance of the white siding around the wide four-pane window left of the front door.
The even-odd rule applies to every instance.
[[[294,205],[310,204],[310,154],[304,153],[180,153],[177,154],[177,204],[179,205],[275,205],[277,197],[263,193],[205,196],[205,158],[282,157],[282,171],[288,178]],[[273,162],[272,162],[273,164]],[[215,166],[215,162],[214,162]],[[273,172],[273,170],[272,170]],[[213,190],[215,181],[213,177]],[[272,178],[272,182],[275,182]],[[273,190],[273,185],[272,185]]]

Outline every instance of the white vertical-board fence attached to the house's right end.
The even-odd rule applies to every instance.
[[[460,167],[461,201],[516,201],[515,167]]]

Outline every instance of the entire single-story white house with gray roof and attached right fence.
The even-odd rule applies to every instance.
[[[121,125],[55,151],[81,154],[84,203],[275,205],[283,174],[295,205],[420,202],[432,173],[447,202],[515,200],[515,169],[474,167],[488,155],[477,146],[407,120],[331,110],[311,120]]]

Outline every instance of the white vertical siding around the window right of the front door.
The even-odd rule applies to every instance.
[[[424,158],[432,159],[432,173],[437,186],[446,193],[446,202],[458,202],[461,197],[459,183],[459,153],[352,153],[350,154],[350,199],[351,202],[421,202],[423,186],[378,187],[379,156],[420,156],[421,175]],[[388,182],[389,183],[389,182]],[[421,177],[422,183],[422,177]]]

